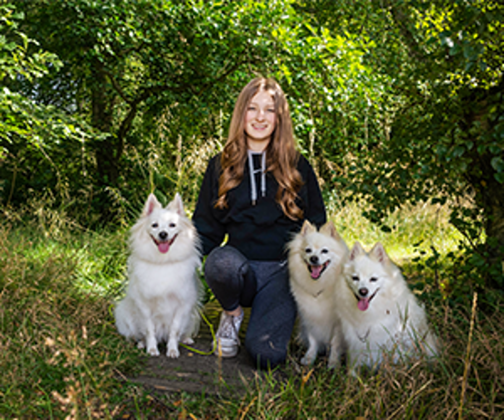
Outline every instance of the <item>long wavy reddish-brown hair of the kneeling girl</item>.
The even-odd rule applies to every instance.
[[[278,182],[275,197],[285,215],[293,220],[302,219],[303,211],[295,199],[303,182],[296,169],[299,152],[296,150],[292,133],[289,105],[280,85],[273,79],[256,78],[240,92],[234,106],[229,135],[221,155],[219,176],[219,198],[216,208],[227,207],[227,192],[237,187],[243,179],[247,160],[247,139],[244,130],[245,112],[252,98],[264,90],[271,94],[275,102],[276,127],[266,148],[266,170]]]

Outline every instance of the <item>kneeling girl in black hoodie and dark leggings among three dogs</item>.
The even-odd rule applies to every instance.
[[[296,317],[285,246],[304,219],[326,222],[317,178],[295,149],[282,89],[254,79],[238,96],[193,215],[208,255],[205,279],[223,308],[216,353],[236,355],[242,308],[251,307],[245,348],[254,363],[264,369],[285,361]]]

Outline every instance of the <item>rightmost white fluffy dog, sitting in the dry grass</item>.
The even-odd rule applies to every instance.
[[[347,361],[355,374],[362,365],[378,367],[412,355],[436,353],[424,309],[382,244],[366,254],[357,242],[334,294]]]

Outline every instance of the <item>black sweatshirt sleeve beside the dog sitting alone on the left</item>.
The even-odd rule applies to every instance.
[[[218,192],[218,155],[208,163],[193,214],[193,222],[201,240],[202,254],[218,247],[225,235],[225,226],[215,217],[214,203]]]

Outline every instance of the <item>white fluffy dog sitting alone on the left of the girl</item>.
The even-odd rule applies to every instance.
[[[158,343],[165,341],[166,355],[178,357],[178,343],[191,344],[198,332],[198,246],[180,195],[163,208],[150,194],[131,229],[129,284],[115,307],[115,324],[120,334],[153,356],[159,355]]]

